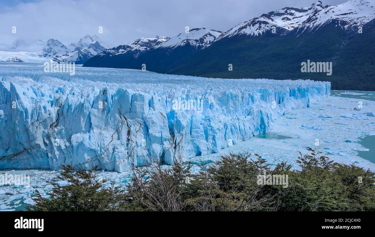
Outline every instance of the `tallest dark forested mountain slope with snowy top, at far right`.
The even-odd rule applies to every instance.
[[[327,6],[286,34],[221,37],[183,62],[166,65],[158,72],[218,78],[312,79],[330,81],[332,89],[373,91],[374,17],[374,0]],[[332,75],[301,72],[301,63],[307,60],[332,62]],[[228,71],[228,64],[233,65],[233,71]]]

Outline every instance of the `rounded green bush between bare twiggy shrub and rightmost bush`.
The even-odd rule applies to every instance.
[[[198,211],[273,210],[274,200],[256,181],[259,171],[269,170],[266,160],[257,155],[250,159],[248,152],[222,156],[216,164],[194,175],[187,200]]]

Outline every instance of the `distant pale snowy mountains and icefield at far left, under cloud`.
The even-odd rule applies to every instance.
[[[0,60],[6,62],[55,62],[85,63],[89,58],[110,48],[108,43],[98,36],[87,34],[78,42],[65,46],[58,40],[48,39],[47,42],[37,40],[27,44],[23,40],[16,40],[12,45],[0,46]]]

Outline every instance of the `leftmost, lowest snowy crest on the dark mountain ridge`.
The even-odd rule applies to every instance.
[[[169,40],[169,37],[165,37],[165,36],[156,37],[156,38],[141,37],[125,45],[119,45],[117,47],[108,49],[102,52],[101,54],[99,54],[99,56],[105,55],[105,54],[116,55],[116,54],[124,54],[126,52],[135,52],[134,57],[137,57],[139,52],[143,52],[148,49],[151,49],[154,46],[160,45],[161,43],[167,40]]]

